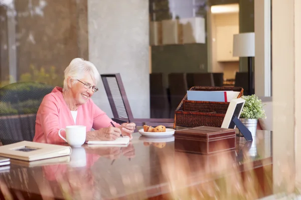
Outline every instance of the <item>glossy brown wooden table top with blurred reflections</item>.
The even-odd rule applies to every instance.
[[[209,155],[179,152],[174,136],[133,134],[128,146],[84,144],[53,163],[11,164],[0,171],[2,195],[39,199],[215,199],[271,194],[271,131],[236,149]]]

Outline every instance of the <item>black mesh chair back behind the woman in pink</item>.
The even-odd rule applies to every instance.
[[[0,140],[4,145],[33,140],[37,111],[53,88],[40,82],[16,82],[0,88]]]

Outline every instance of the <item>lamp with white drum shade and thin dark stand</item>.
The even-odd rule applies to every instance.
[[[253,94],[252,57],[255,56],[255,33],[245,32],[233,35],[233,56],[248,57],[249,95]]]

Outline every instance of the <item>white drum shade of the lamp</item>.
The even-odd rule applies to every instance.
[[[255,56],[255,33],[246,32],[233,35],[233,56]]]

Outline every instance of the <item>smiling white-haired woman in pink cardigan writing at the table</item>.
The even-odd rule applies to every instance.
[[[37,113],[34,141],[64,142],[58,131],[67,125],[85,125],[86,140],[114,140],[120,134],[132,138],[134,123],[113,122],[91,99],[98,90],[96,85],[100,77],[93,63],[74,58],[64,74],[63,88],[57,86],[43,98]]]

